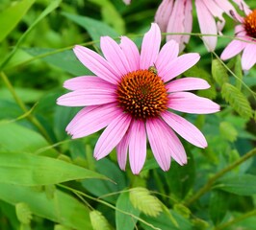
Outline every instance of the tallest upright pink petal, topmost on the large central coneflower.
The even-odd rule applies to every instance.
[[[158,57],[161,43],[161,32],[156,23],[151,24],[150,30],[144,34],[141,44],[140,68],[148,69],[154,65]]]

